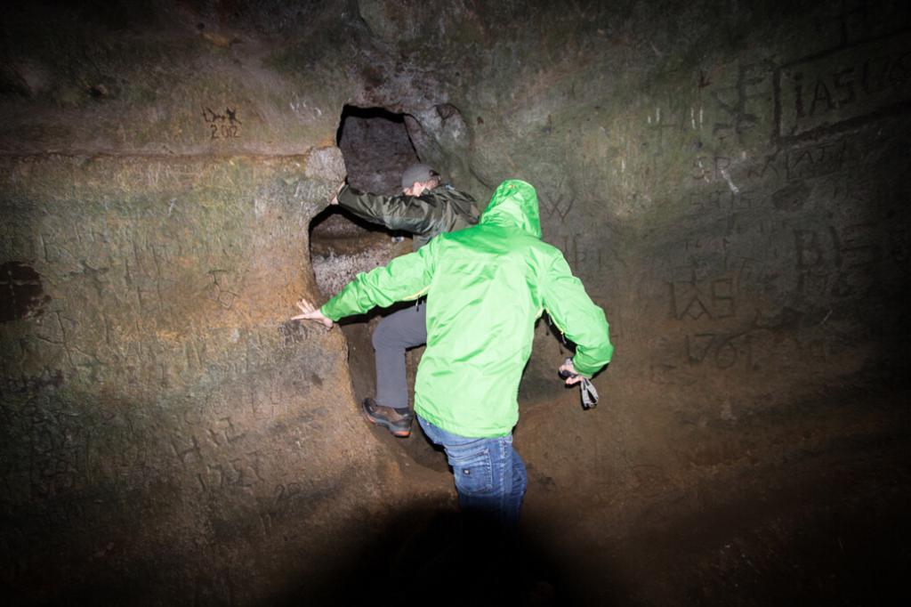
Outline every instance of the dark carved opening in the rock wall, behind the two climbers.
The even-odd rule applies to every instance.
[[[336,139],[342,149],[348,183],[357,190],[387,196],[398,194],[402,190],[402,171],[420,162],[408,136],[404,115],[384,108],[345,106]],[[368,272],[411,251],[409,234],[389,231],[338,206],[330,206],[311,222],[313,273],[326,298],[341,291],[357,273]],[[374,396],[376,374],[371,335],[385,315],[404,305],[377,308],[368,314],[344,319],[340,324],[348,341],[348,363],[358,406],[363,398]],[[412,406],[415,372],[423,350],[423,347],[415,348],[405,356]],[[427,443],[416,424],[408,438],[394,438],[383,428],[376,428],[375,433],[394,445],[396,453],[404,453],[405,457],[428,468],[446,469],[445,458]]]

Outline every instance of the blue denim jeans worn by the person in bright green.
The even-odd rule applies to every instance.
[[[525,463],[506,437],[462,437],[418,421],[430,440],[445,449],[453,468],[459,507],[464,513],[495,524],[508,534],[518,530],[518,514],[528,477]]]

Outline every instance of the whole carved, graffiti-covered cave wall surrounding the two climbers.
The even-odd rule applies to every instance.
[[[344,176],[346,104],[404,113],[421,159],[478,200],[530,181],[545,240],[606,310],[617,355],[596,411],[554,381],[568,350],[538,326],[517,431],[533,520],[595,504],[573,524],[629,532],[654,516],[643,501],[704,508],[724,499],[707,480],[905,432],[903,399],[872,419],[862,404],[906,388],[909,15],[16,6],[0,48],[5,584],[29,601],[62,579],[256,602],[317,583],[356,513],[424,490],[353,415],[342,335],[285,323],[320,296],[308,229]],[[262,583],[239,588],[241,571]]]

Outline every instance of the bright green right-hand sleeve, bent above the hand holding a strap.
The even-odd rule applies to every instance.
[[[541,296],[551,320],[576,344],[572,361],[576,371],[587,377],[598,373],[614,354],[608,321],[604,311],[591,301],[582,282],[572,275],[560,253],[544,276]]]

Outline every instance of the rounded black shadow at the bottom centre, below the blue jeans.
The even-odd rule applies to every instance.
[[[454,511],[402,512],[356,562],[281,604],[580,604],[543,547],[479,534]]]

